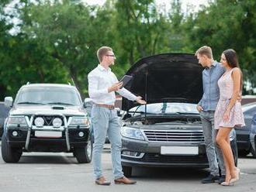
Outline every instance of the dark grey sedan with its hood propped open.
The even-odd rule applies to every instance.
[[[209,166],[196,104],[202,98],[202,67],[192,54],[145,57],[126,73],[133,81],[126,88],[147,105],[123,98],[121,160],[126,176],[134,166]],[[235,131],[230,142],[237,164]]]

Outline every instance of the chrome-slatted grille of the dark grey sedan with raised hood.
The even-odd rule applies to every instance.
[[[202,131],[144,130],[150,142],[204,142]]]

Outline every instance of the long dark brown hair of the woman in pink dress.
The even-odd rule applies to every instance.
[[[223,54],[226,57],[227,60],[227,64],[229,65],[229,67],[234,68],[234,67],[239,67],[239,63],[238,63],[238,58],[237,58],[237,53],[235,52],[235,50],[229,49],[229,50],[224,50]],[[243,87],[243,73],[242,70],[240,70],[240,91],[242,91],[242,87]]]

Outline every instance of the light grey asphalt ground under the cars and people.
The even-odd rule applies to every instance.
[[[0,155],[1,156],[1,155]],[[110,147],[102,153],[102,167],[106,177],[112,178]],[[78,164],[71,153],[23,153],[19,163],[5,163],[0,157],[0,192],[85,192],[85,191],[256,191],[256,159],[239,159],[240,180],[232,187],[217,183],[202,184],[207,170],[137,168],[133,172],[133,186],[97,186],[92,163]]]

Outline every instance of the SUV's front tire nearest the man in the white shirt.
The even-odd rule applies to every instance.
[[[93,142],[89,140],[85,147],[74,148],[74,156],[78,163],[90,163],[92,161],[92,147]]]

